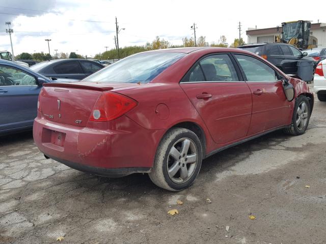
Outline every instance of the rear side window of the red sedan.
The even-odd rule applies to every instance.
[[[229,55],[215,54],[200,60],[182,80],[182,82],[196,81],[239,81],[239,79]]]

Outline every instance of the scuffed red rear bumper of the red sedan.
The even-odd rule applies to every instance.
[[[110,177],[148,172],[164,131],[147,130],[127,116],[107,128],[111,129],[63,125],[37,117],[33,136],[44,155],[80,171]],[[52,133],[60,133],[63,141],[53,142]]]

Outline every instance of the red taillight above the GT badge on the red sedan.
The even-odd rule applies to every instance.
[[[103,92],[97,99],[90,121],[111,121],[130,111],[137,106],[137,102],[131,98],[112,92]]]

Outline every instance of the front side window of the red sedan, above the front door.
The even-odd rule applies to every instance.
[[[277,75],[274,69],[263,63],[257,58],[235,54],[247,81],[254,82],[274,82],[277,81]]]

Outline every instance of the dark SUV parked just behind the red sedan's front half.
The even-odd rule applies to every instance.
[[[314,78],[315,62],[296,47],[285,43],[256,43],[239,46],[251,51],[275,65],[285,74],[297,75],[306,82]]]

